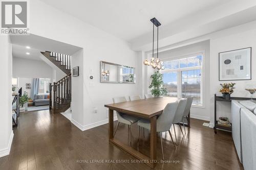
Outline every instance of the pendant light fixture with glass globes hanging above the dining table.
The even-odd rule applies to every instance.
[[[161,61],[158,58],[158,27],[161,26],[161,23],[156,19],[156,18],[152,18],[150,20],[153,23],[153,47],[152,47],[152,58],[150,61],[148,61],[147,59],[144,60],[144,65],[148,65],[148,66],[152,66],[152,68],[157,68],[158,70],[160,69],[164,69],[163,66],[163,61]],[[157,58],[154,58],[154,37],[155,37],[155,27],[157,27]]]

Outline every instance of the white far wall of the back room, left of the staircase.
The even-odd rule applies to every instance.
[[[52,78],[53,69],[40,60],[13,57],[13,78]]]

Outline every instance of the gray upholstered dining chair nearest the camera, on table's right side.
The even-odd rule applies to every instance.
[[[168,131],[170,138],[172,139],[174,144],[173,136],[170,133],[170,127],[172,126],[172,122],[174,120],[177,107],[178,107],[178,101],[174,103],[168,103],[165,106],[162,114],[157,118],[157,132],[160,133],[162,155],[163,155],[162,132]],[[138,146],[139,146],[139,137],[140,137],[140,127],[150,130],[151,128],[150,120],[144,119],[144,118],[138,120],[138,142],[137,142]],[[175,147],[175,144],[174,144],[174,147]],[[163,156],[163,159],[164,159],[164,156]]]

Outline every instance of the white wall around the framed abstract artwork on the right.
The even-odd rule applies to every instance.
[[[250,94],[245,88],[256,88],[256,26],[245,25],[243,28],[233,28],[219,33],[211,38],[210,41],[210,120],[214,124],[214,94],[221,95],[219,91],[220,83],[234,82],[236,89],[231,96],[247,97],[250,98]],[[241,81],[219,81],[219,53],[224,51],[236,50],[244,47],[252,47],[251,52],[251,80]],[[254,96],[255,97],[255,96]],[[228,116],[230,117],[230,103],[218,102],[217,103],[217,117]]]

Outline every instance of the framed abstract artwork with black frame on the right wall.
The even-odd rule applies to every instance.
[[[219,81],[251,80],[251,47],[219,53]]]

